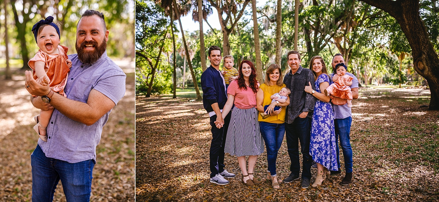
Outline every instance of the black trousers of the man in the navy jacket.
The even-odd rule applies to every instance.
[[[210,144],[210,177],[215,177],[216,174],[224,171],[224,145],[226,145],[227,128],[229,128],[230,111],[224,118],[224,125],[222,128],[216,128],[216,115],[210,117],[210,126],[212,126],[212,143]]]

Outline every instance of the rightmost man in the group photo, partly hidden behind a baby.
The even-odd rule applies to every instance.
[[[343,55],[340,53],[335,54],[334,58],[332,58],[332,71],[336,72],[335,65],[338,63],[345,63],[345,60],[343,59]],[[353,77],[352,85],[349,87],[351,88],[352,97],[353,99],[358,98],[358,79],[354,74],[351,74],[349,72],[346,72],[349,76]],[[331,77],[334,76],[334,74],[331,74]],[[332,79],[330,79],[330,82],[332,82]],[[342,185],[348,185],[352,181],[352,147],[350,143],[350,137],[349,133],[351,131],[351,124],[352,124],[352,113],[351,113],[351,107],[348,107],[348,104],[345,105],[332,105],[332,108],[334,110],[334,127],[335,127],[335,142],[337,142],[338,145],[338,139],[340,139],[340,145],[342,146],[343,150],[343,156],[345,159],[345,172],[346,175],[343,178],[342,182],[340,184]],[[338,163],[338,171],[331,171],[331,175],[338,175],[341,174],[340,170],[340,151],[337,146],[337,163]]]

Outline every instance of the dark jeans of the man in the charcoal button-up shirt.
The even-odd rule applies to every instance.
[[[309,138],[311,137],[311,118],[296,117],[293,123],[285,123],[287,136],[288,155],[290,156],[290,171],[295,176],[299,176],[299,141],[303,156],[302,161],[302,179],[311,179],[311,165],[313,157],[309,155]]]

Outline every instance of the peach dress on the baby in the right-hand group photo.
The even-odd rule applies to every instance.
[[[344,105],[346,104],[348,99],[352,99],[352,92],[349,85],[345,85],[345,82],[351,82],[353,77],[345,74],[343,76],[339,76],[337,81],[329,85],[326,90],[329,94],[329,97],[332,99],[332,103],[335,105]]]

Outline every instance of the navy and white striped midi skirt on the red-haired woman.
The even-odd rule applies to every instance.
[[[224,152],[231,156],[257,156],[264,152],[264,139],[259,131],[258,110],[255,107],[234,107]]]

